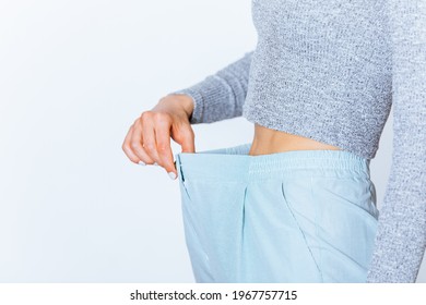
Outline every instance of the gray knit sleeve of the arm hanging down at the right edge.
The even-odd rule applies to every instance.
[[[426,1],[389,4],[392,166],[367,282],[414,282],[426,246]]]

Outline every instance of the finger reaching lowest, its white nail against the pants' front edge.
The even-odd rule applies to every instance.
[[[161,166],[167,171],[171,179],[176,179],[177,171],[173,162],[173,151],[170,147],[170,124],[167,121],[158,122],[156,125],[155,141]],[[174,173],[174,175],[171,173]]]

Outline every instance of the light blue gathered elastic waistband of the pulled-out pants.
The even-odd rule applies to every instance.
[[[292,174],[359,174],[369,178],[369,160],[346,150],[292,150],[248,155],[251,144],[175,155],[178,174],[191,179],[248,181]],[[179,172],[180,170],[180,172]]]

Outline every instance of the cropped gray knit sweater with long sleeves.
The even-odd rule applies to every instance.
[[[192,124],[242,115],[367,159],[393,107],[368,282],[414,282],[426,246],[426,0],[252,0],[253,51],[175,94]]]

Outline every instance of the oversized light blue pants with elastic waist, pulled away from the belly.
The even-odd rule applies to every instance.
[[[377,228],[369,161],[344,150],[176,154],[197,282],[364,282]]]

